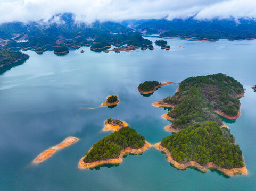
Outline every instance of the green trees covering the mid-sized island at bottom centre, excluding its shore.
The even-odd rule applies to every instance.
[[[138,149],[144,144],[144,136],[137,134],[135,129],[123,127],[93,144],[92,149],[85,153],[84,162],[118,158],[126,147]]]

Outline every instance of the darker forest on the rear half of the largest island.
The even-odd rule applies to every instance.
[[[243,92],[243,86],[233,77],[218,73],[185,79],[180,83],[179,92],[164,98],[163,102],[177,106],[168,112],[168,116],[174,118],[172,127],[181,129],[194,122],[213,120],[221,124],[213,110],[237,115],[240,108],[237,94]]]

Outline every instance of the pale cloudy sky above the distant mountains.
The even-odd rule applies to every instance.
[[[256,0],[0,0],[0,23],[47,22],[74,13],[77,22],[128,19],[256,18]],[[54,18],[58,22],[59,18]]]

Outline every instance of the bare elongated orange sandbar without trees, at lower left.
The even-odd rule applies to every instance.
[[[38,164],[40,162],[43,162],[44,160],[48,159],[53,155],[57,150],[63,149],[64,147],[67,147],[75,142],[77,142],[79,139],[76,137],[68,137],[65,138],[64,141],[62,141],[60,144],[51,147],[50,149],[47,149],[40,153],[34,160],[33,163]]]

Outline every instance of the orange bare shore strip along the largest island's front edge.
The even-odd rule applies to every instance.
[[[233,168],[233,169],[222,168],[222,167],[218,166],[217,164],[214,164],[213,162],[209,162],[209,163],[205,164],[204,166],[201,166],[199,163],[197,163],[195,161],[190,161],[190,162],[186,162],[186,163],[182,163],[181,164],[181,163],[175,161],[174,159],[172,159],[170,151],[168,151],[168,149],[166,149],[165,147],[161,146],[160,144],[161,144],[161,142],[156,143],[153,146],[156,149],[166,153],[168,162],[173,164],[174,167],[176,167],[178,169],[186,169],[188,167],[195,167],[195,168],[197,168],[197,169],[199,169],[200,171],[203,171],[203,172],[207,171],[208,169],[216,169],[216,170],[224,173],[227,176],[234,176],[237,173],[245,174],[245,175],[248,174],[244,161],[243,161],[244,162],[244,167]]]

